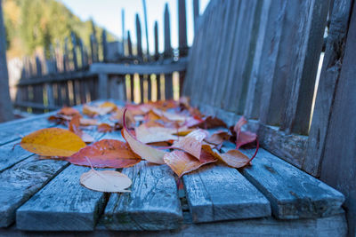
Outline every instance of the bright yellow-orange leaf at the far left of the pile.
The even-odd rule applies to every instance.
[[[20,145],[35,154],[70,156],[85,147],[85,142],[69,130],[49,128],[32,132],[22,138]]]

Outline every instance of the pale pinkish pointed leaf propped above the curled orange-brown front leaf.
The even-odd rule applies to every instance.
[[[181,149],[199,159],[202,141],[204,140],[204,138],[206,138],[207,135],[208,134],[206,130],[193,130],[184,138],[174,142],[174,145],[172,147]]]

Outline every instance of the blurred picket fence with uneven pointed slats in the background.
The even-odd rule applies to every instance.
[[[145,1],[145,36],[147,20]],[[142,102],[156,99],[171,99],[179,94],[187,62],[187,21],[184,0],[178,4],[179,47],[171,46],[170,12],[166,4],[164,12],[164,51],[158,51],[158,22],[154,25],[154,54],[142,50],[142,24],[135,16],[136,44],[131,34],[122,43],[107,42],[107,33],[98,43],[93,27],[90,49],[75,33],[66,38],[63,51],[50,47],[49,58],[25,58],[22,78],[17,85],[15,107],[30,109],[34,113],[57,109],[64,105],[74,106],[94,99],[125,99]],[[193,1],[194,20],[198,18],[198,0]],[[123,17],[123,34],[125,17]],[[182,87],[181,87],[182,88]]]

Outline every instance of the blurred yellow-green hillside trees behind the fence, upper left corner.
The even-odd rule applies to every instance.
[[[91,20],[82,21],[61,2],[55,0],[3,0],[8,59],[32,55],[37,50],[49,49],[73,31],[89,47],[93,33]],[[98,42],[102,28],[94,26]],[[109,41],[115,37],[108,34]]]

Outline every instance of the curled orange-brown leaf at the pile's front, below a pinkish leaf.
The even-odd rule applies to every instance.
[[[182,177],[183,174],[186,174],[192,170],[197,170],[206,163],[217,161],[213,155],[208,154],[204,150],[202,150],[202,154],[202,159],[197,160],[197,158],[185,152],[174,151],[165,154],[163,159],[166,164],[174,170],[174,173],[176,173],[179,177]]]

